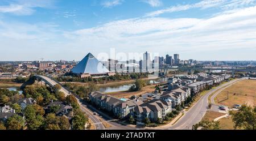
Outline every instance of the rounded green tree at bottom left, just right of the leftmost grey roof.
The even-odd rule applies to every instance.
[[[14,116],[11,116],[7,119],[6,122],[6,129],[8,130],[21,130],[23,129],[25,125],[25,120],[18,116],[17,114],[14,114]]]

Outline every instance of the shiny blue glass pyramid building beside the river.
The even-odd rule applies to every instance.
[[[88,53],[71,71],[76,74],[106,74],[109,72],[92,53]]]

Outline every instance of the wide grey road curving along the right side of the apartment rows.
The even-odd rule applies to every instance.
[[[241,79],[235,79],[230,82],[227,82],[225,84],[222,84],[221,86],[218,86],[212,90],[210,90],[208,93],[206,93],[195,105],[192,106],[191,109],[189,109],[187,112],[185,112],[184,116],[179,119],[175,123],[175,125],[172,126],[164,126],[163,129],[172,129],[172,130],[186,130],[186,129],[192,129],[192,126],[196,123],[200,122],[201,119],[204,117],[204,114],[208,110],[208,97],[213,93],[218,91],[219,89],[228,87],[234,83],[237,83],[241,80],[244,80],[245,78]]]

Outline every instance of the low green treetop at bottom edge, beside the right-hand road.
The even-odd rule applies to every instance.
[[[218,121],[209,121],[209,119],[203,119],[199,123],[196,123],[192,126],[193,130],[197,130],[201,128],[201,130],[218,130],[220,129],[220,122]]]

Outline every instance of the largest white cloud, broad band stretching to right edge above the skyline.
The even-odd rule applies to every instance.
[[[212,18],[135,18],[66,32],[66,37],[94,50],[200,52],[256,48],[256,6]],[[70,44],[71,45],[71,44]],[[196,50],[196,51],[195,51]],[[254,59],[256,59],[254,57]]]

